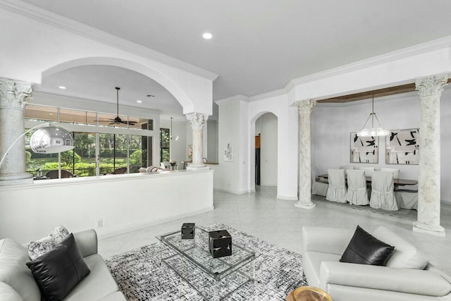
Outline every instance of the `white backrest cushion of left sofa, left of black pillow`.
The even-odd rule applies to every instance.
[[[24,301],[40,301],[41,293],[25,262],[29,262],[25,247],[10,238],[0,240],[0,282],[11,286]]]

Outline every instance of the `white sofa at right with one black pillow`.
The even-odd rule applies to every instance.
[[[395,246],[387,266],[339,262],[354,231],[302,228],[304,273],[309,285],[325,290],[334,301],[451,300],[451,277],[387,228],[371,233]]]

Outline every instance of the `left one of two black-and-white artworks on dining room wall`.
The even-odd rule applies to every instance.
[[[358,137],[351,133],[351,163],[378,163],[378,137]]]

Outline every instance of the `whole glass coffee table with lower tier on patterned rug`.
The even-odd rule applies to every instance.
[[[195,226],[194,239],[182,239],[180,230],[156,238],[161,242],[160,264],[173,269],[204,300],[222,300],[255,279],[256,253],[237,245],[233,238],[232,255],[220,258],[211,256],[209,231],[199,226]]]

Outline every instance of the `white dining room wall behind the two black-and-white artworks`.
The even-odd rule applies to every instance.
[[[420,100],[416,92],[376,98],[374,111],[384,128],[419,128]],[[441,199],[451,202],[451,90],[441,99]],[[317,104],[312,113],[312,173],[318,176],[340,165],[399,168],[400,177],[418,180],[418,165],[385,164],[385,137],[378,142],[378,164],[350,163],[350,133],[364,125],[371,113],[371,100],[344,106]],[[421,146],[420,146],[421,152]],[[416,188],[415,187],[412,187]]]

